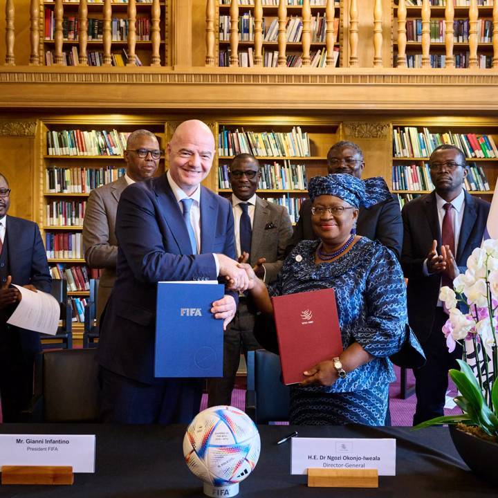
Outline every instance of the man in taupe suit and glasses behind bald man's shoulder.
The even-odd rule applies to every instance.
[[[83,244],[86,262],[92,268],[103,268],[97,298],[97,320],[111,294],[116,280],[118,241],[116,210],[122,191],[132,183],[154,176],[160,158],[159,142],[151,131],[139,129],[128,137],[123,154],[127,171],[124,176],[90,192],[83,220]]]

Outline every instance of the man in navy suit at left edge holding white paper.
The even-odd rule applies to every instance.
[[[0,396],[3,422],[19,422],[33,396],[33,362],[40,350],[37,332],[6,322],[21,300],[10,284],[50,292],[52,279],[36,223],[7,216],[10,188],[0,174]]]

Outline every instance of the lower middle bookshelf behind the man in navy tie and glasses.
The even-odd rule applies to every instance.
[[[213,170],[218,175],[219,194],[231,195],[226,176],[230,161],[239,152],[248,151],[261,166],[257,194],[285,205],[291,221],[296,223],[300,205],[308,197],[307,183],[313,176],[326,174],[326,154],[334,142],[342,139],[342,127],[340,122],[321,118],[261,117],[220,121],[216,137],[218,154]]]

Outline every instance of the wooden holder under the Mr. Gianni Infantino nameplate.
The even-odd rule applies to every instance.
[[[2,484],[73,484],[73,467],[58,465],[3,465]]]

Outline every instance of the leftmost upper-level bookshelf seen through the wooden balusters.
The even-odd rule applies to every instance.
[[[57,19],[62,19],[62,65],[75,66],[80,63],[79,19],[80,0],[62,1],[61,10],[57,10],[55,0],[40,0],[40,54],[47,66],[55,64],[55,27]],[[135,19],[135,55],[136,66],[151,66],[153,59],[153,25],[156,14],[152,0],[136,0],[135,10],[129,12],[127,0],[113,0],[106,11],[104,0],[86,0],[87,42],[86,54],[89,66],[104,65],[104,24],[109,17],[111,30],[110,48],[111,65],[126,66],[128,61],[128,33],[131,19]],[[169,0],[158,2],[158,29],[160,65],[169,64],[167,53],[167,18],[169,17]]]

